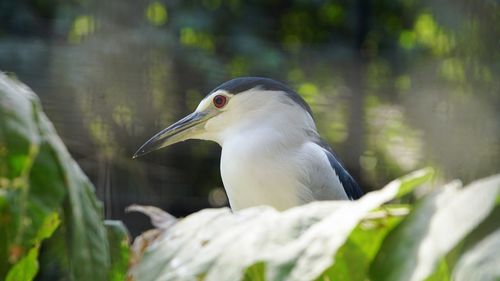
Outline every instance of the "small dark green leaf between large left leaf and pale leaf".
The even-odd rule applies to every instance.
[[[111,281],[123,281],[126,277],[129,262],[129,234],[121,221],[104,222],[108,233],[109,251],[111,256]]]

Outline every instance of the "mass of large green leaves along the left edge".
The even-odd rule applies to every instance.
[[[36,95],[0,73],[0,280],[32,280],[41,247],[53,278],[123,280],[127,244]]]

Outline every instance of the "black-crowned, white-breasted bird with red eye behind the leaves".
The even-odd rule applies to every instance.
[[[219,85],[133,158],[187,139],[222,147],[220,174],[233,211],[260,205],[283,211],[363,195],[318,134],[306,101],[271,78],[239,77]]]

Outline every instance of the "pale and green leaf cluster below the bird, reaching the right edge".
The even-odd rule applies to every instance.
[[[383,205],[429,179],[424,169],[355,202],[285,212],[203,210],[135,242],[135,280],[497,280],[500,176],[452,183],[415,205]],[[144,251],[144,247],[146,247]]]

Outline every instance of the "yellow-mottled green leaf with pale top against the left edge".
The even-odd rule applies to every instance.
[[[0,279],[28,254],[40,220],[30,217],[28,177],[39,147],[31,92],[0,73]],[[26,98],[29,96],[29,98]]]

